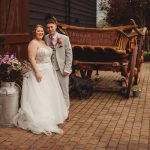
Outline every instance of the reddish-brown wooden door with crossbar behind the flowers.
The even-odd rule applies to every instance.
[[[0,53],[27,57],[28,0],[0,0]]]

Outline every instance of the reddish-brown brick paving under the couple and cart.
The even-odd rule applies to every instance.
[[[0,128],[0,150],[150,149],[149,74],[150,63],[145,63],[141,71],[140,98],[127,100],[116,92],[97,91],[88,100],[72,100],[71,120],[62,126],[64,135],[49,137],[16,128]],[[116,74],[112,76],[116,78]],[[100,80],[102,78],[103,75]]]

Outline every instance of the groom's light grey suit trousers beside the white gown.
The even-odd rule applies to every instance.
[[[62,76],[60,70],[57,70],[56,73],[57,73],[57,77],[58,77],[58,80],[59,80],[60,87],[61,87],[63,95],[64,95],[64,99],[66,101],[67,108],[69,109],[69,107],[70,107],[69,76],[66,76],[66,77]]]

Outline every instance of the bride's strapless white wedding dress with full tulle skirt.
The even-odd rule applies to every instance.
[[[51,48],[38,48],[36,61],[42,73],[42,81],[37,82],[32,70],[27,73],[27,77],[23,79],[21,108],[13,118],[15,126],[36,134],[62,134],[63,130],[58,124],[68,117],[51,55]]]

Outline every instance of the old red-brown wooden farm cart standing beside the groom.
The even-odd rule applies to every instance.
[[[126,85],[126,97],[129,98],[133,84],[139,82],[146,27],[139,29],[131,20],[130,25],[112,28],[60,24],[58,29],[70,38],[73,67],[121,72]]]

